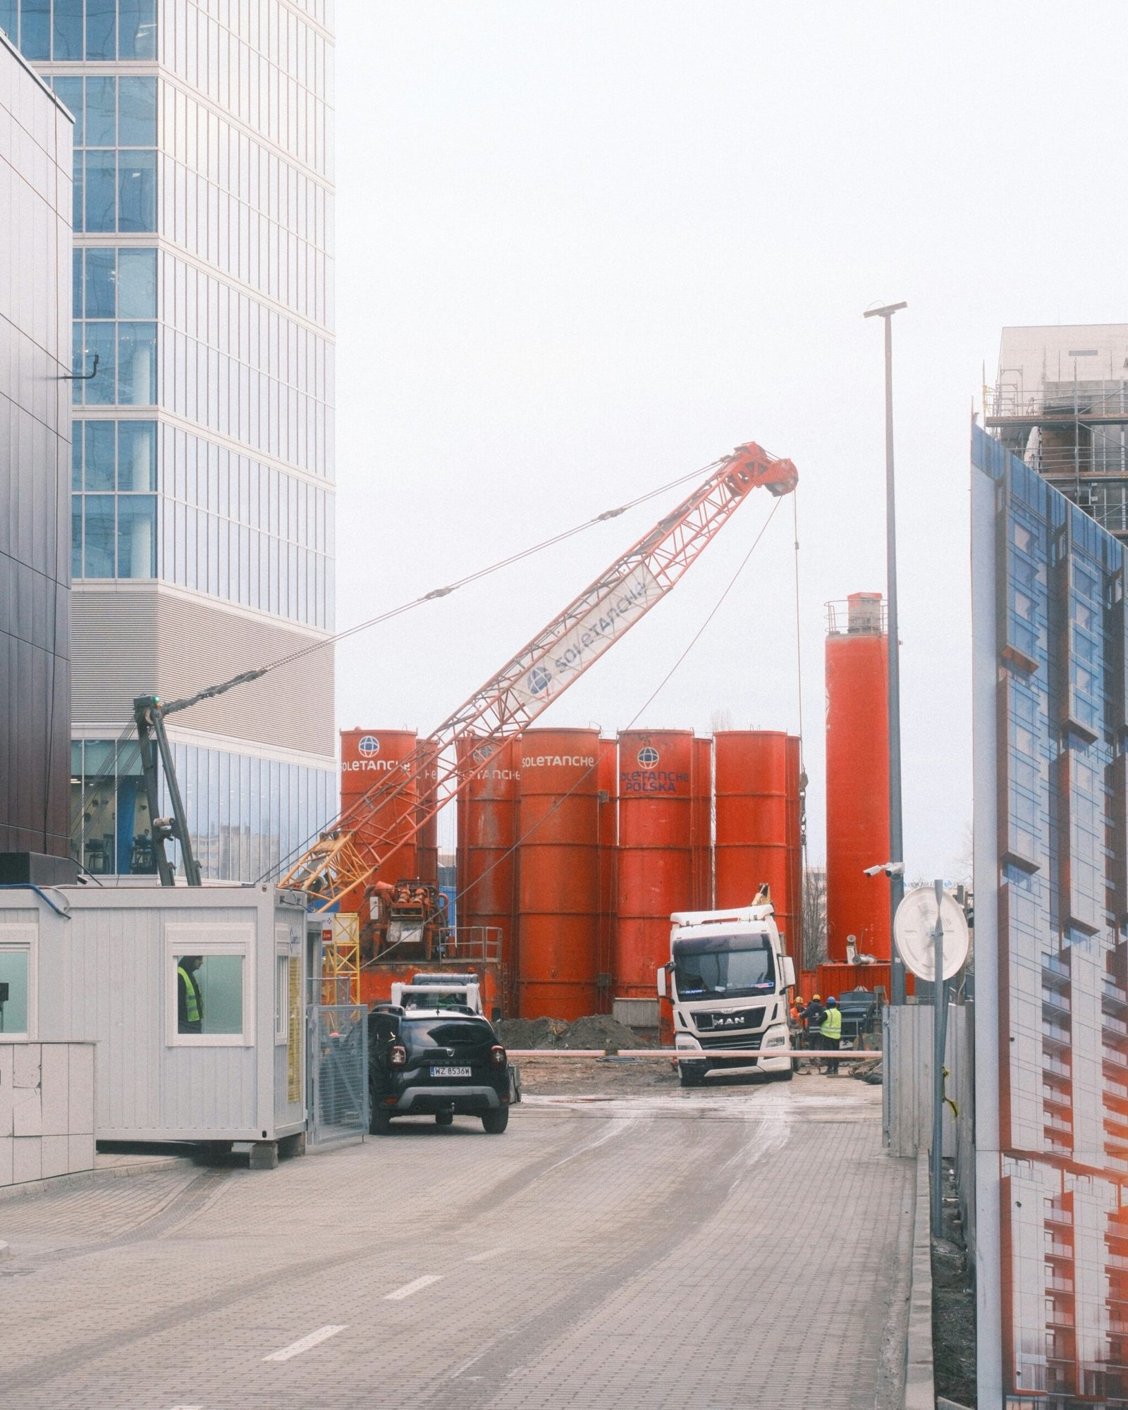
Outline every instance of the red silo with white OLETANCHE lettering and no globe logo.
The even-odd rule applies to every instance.
[[[517,1010],[582,1018],[596,1008],[599,732],[522,736],[517,860]]]

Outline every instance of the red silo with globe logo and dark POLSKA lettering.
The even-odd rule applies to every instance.
[[[694,905],[694,735],[619,736],[619,924],[615,993],[654,998],[670,959],[670,915]]]

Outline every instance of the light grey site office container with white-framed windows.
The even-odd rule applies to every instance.
[[[265,885],[0,888],[0,953],[28,973],[23,1041],[96,1045],[99,1141],[305,1131],[305,897]],[[186,955],[220,1032],[180,1031]]]

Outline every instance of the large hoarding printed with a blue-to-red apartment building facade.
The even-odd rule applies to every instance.
[[[1125,547],[973,427],[979,1403],[1128,1407]]]

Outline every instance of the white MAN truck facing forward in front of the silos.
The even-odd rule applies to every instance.
[[[795,966],[784,955],[771,902],[678,911],[670,921],[670,963],[658,970],[658,997],[674,1005],[682,1087],[713,1072],[763,1072],[790,1081]],[[732,1049],[752,1056],[728,1058]]]

